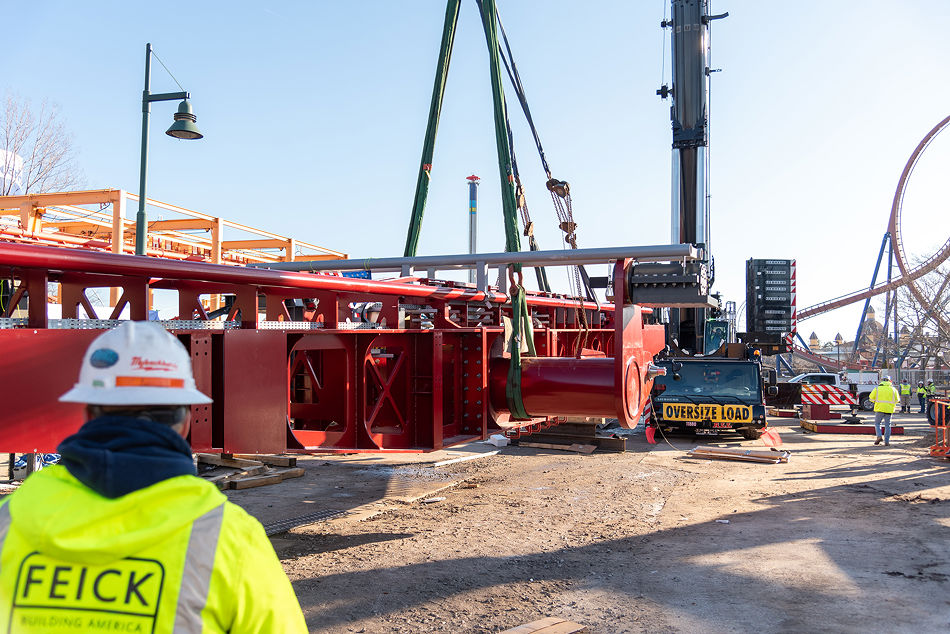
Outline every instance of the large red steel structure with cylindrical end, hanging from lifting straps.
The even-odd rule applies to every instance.
[[[80,307],[100,317],[86,293],[103,287],[119,289],[110,320],[124,308],[146,319],[151,289],[177,292],[179,319],[165,326],[214,399],[193,410],[195,451],[428,451],[572,414],[633,427],[665,342],[664,326],[646,323],[650,309],[630,302],[631,264],[614,265],[613,305],[529,295],[538,356],[524,360],[522,395],[533,418],[513,421],[503,294],[3,243],[0,274],[15,287],[0,315],[0,451],[51,451],[81,425],[81,407],[57,397],[89,342],[114,325],[78,319]],[[50,283],[61,285],[61,320],[47,315]],[[208,318],[201,298],[210,295],[233,296],[225,321]],[[302,300],[302,318],[288,300]],[[26,316],[13,318],[24,301]],[[583,353],[570,356],[582,335]]]

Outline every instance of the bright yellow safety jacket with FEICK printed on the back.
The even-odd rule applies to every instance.
[[[110,499],[56,465],[0,504],[0,629],[306,632],[260,523],[190,475]]]

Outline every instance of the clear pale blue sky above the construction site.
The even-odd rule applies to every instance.
[[[500,0],[548,160],[571,183],[581,246],[669,242],[667,1]],[[58,104],[89,188],[138,189],[145,43],[191,92],[205,138],[163,134],[152,198],[354,257],[401,255],[444,2],[7,3],[0,92]],[[950,104],[950,3],[716,0],[712,231],[716,288],[744,299],[749,257],[796,258],[799,307],[867,285],[894,187]],[[12,27],[10,26],[12,25]],[[668,40],[667,40],[668,48]],[[177,86],[153,65],[153,91]],[[510,91],[509,105],[514,106]],[[515,145],[542,248],[560,231],[527,127]],[[482,177],[481,250],[502,250],[488,60],[463,2],[420,254],[467,249],[465,177]],[[950,137],[922,160],[904,237],[950,234]],[[564,289],[566,290],[566,288]],[[849,338],[853,307],[804,322]],[[741,324],[740,324],[741,327]]]

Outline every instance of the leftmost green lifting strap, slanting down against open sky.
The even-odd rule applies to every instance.
[[[416,255],[416,250],[419,248],[422,215],[425,213],[426,197],[429,195],[435,135],[439,129],[439,114],[442,112],[445,80],[449,74],[449,63],[452,61],[452,44],[455,41],[455,27],[458,24],[460,4],[461,0],[448,0],[445,5],[442,47],[439,50],[439,63],[435,69],[435,85],[432,87],[432,102],[429,104],[429,123],[426,126],[426,138],[422,144],[422,159],[419,161],[419,176],[416,179],[416,195],[412,202],[412,217],[409,220],[409,233],[406,236],[406,249],[403,252],[406,257]]]

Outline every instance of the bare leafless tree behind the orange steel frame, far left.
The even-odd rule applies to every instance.
[[[77,189],[72,136],[54,106],[8,95],[0,112],[0,195]]]

